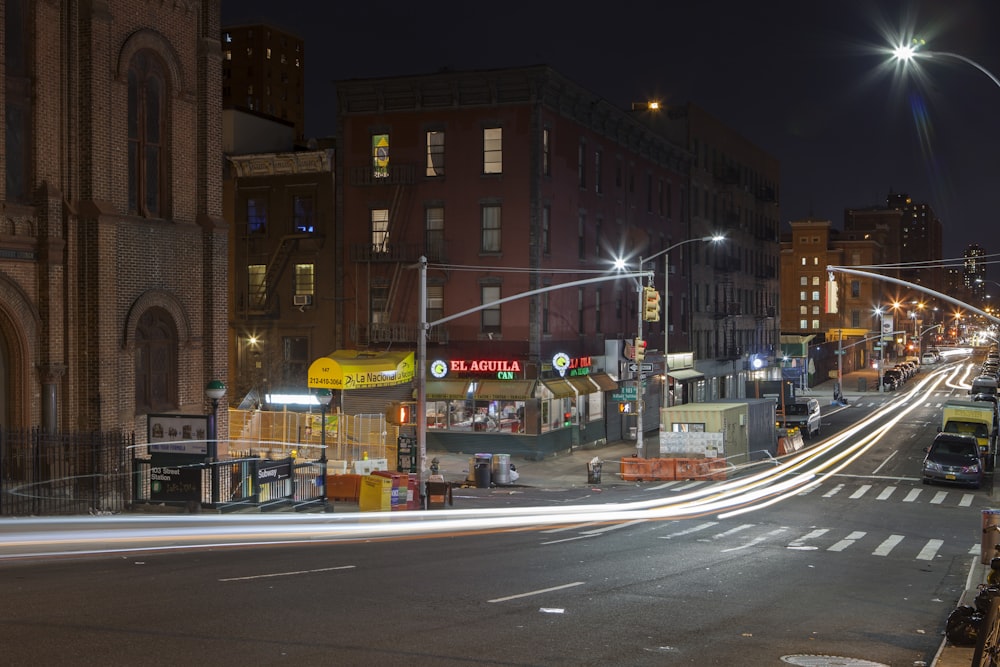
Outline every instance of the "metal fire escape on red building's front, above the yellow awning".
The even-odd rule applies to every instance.
[[[440,249],[424,248],[423,243],[407,243],[413,235],[423,236],[423,230],[410,231],[410,208],[414,198],[417,167],[413,164],[390,165],[385,174],[376,176],[371,166],[351,167],[349,184],[355,188],[370,189],[368,201],[389,201],[389,220],[381,240],[372,235],[368,241],[353,243],[350,248],[351,264],[356,271],[365,273],[368,292],[375,298],[368,300],[367,321],[359,317],[351,326],[351,340],[358,347],[382,346],[389,343],[415,343],[418,326],[416,318],[406,312],[406,305],[418,297],[416,273],[407,267],[417,262],[420,255],[431,261],[441,260]],[[380,195],[383,195],[380,198]],[[370,233],[370,232],[369,232]],[[395,319],[394,319],[395,315]],[[412,320],[412,321],[411,321]],[[447,342],[447,330],[441,326],[427,332],[428,342]]]

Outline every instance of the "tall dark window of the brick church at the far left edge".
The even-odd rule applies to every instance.
[[[4,146],[3,160],[7,167],[7,200],[19,203],[28,203],[31,199],[28,175],[31,173],[33,153],[31,139],[33,88],[30,75],[33,59],[28,7],[34,8],[34,4],[27,0],[8,0],[4,14],[6,35],[4,136],[7,143]],[[130,95],[131,92],[130,85]]]

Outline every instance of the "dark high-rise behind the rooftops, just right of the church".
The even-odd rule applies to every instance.
[[[222,107],[283,120],[305,136],[303,41],[267,24],[222,30]]]

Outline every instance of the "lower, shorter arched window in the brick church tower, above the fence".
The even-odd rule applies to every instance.
[[[167,311],[150,308],[135,330],[135,412],[177,408],[177,329]]]

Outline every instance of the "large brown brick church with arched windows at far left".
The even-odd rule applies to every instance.
[[[0,423],[142,440],[226,375],[219,2],[3,18]]]

